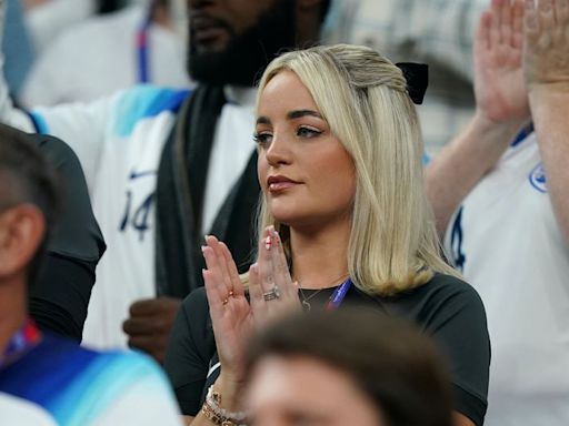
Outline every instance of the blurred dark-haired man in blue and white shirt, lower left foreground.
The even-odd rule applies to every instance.
[[[0,182],[0,423],[179,425],[171,389],[144,356],[87,351],[28,318],[28,281],[57,220],[58,189],[33,143],[6,126]]]

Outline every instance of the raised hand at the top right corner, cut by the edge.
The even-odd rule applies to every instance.
[[[569,93],[569,0],[527,0],[523,28],[528,91]]]

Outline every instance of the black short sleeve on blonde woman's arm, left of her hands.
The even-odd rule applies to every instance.
[[[182,302],[166,353],[164,369],[184,415],[196,416],[216,352],[213,328],[203,287]]]

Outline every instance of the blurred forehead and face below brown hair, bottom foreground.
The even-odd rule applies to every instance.
[[[381,415],[341,371],[308,357],[268,356],[246,404],[251,426],[381,426]]]

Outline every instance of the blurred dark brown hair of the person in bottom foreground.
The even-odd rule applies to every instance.
[[[266,356],[306,356],[348,374],[389,426],[450,426],[450,385],[427,336],[370,310],[293,316],[248,347],[247,373]]]

